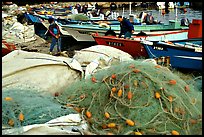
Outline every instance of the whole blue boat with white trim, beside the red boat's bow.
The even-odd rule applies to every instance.
[[[202,71],[202,39],[174,42],[143,41],[149,58],[170,57],[172,68]]]

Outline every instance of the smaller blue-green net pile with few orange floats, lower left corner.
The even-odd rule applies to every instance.
[[[2,125],[5,128],[43,124],[68,114],[76,114],[76,111],[62,106],[48,94],[21,89],[2,92]]]

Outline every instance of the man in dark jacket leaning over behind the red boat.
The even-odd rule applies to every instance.
[[[124,38],[131,38],[132,33],[134,33],[134,26],[122,16],[118,16],[117,19],[120,22],[120,34],[118,37],[121,38],[124,35]]]

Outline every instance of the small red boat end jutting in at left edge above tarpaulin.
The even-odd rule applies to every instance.
[[[5,40],[2,40],[2,57],[15,49],[16,49],[15,44],[8,43]]]

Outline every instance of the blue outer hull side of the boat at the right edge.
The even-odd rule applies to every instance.
[[[164,43],[144,44],[149,58],[170,57],[172,68],[185,70],[202,70],[202,47],[185,48],[182,46],[171,46]]]

